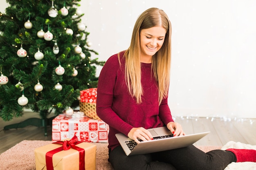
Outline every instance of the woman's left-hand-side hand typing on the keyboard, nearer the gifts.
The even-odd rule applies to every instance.
[[[133,139],[135,142],[137,142],[137,144],[140,143],[140,141],[138,140],[141,139],[143,141],[149,141],[153,139],[153,136],[150,134],[150,132],[148,130],[146,130],[145,128],[132,128],[130,130],[130,132],[128,133],[128,137],[130,139]]]

